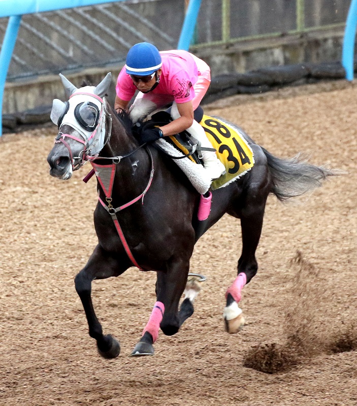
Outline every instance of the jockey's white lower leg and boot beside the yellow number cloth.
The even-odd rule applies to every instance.
[[[180,117],[176,103],[174,103],[172,106],[171,117],[174,120]],[[196,140],[201,143],[201,147],[213,149],[212,144],[206,136],[205,130],[196,120],[193,120],[192,125],[187,128],[186,131],[189,132],[192,137],[196,138]],[[217,158],[215,151],[202,151],[202,160],[203,166],[205,167],[212,180],[219,178],[225,172],[225,166]]]

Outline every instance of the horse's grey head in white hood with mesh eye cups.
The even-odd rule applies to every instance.
[[[108,101],[103,97],[108,91],[111,73],[98,86],[80,89],[63,75],[60,78],[69,100],[53,100],[51,120],[58,125],[59,132],[47,161],[50,175],[69,179],[86,160],[98,156],[109,140],[111,115]]]

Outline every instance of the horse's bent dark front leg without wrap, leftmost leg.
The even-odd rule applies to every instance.
[[[88,321],[89,335],[96,340],[98,352],[104,358],[117,357],[120,353],[120,345],[111,334],[103,334],[102,325],[93,308],[91,283],[94,279],[106,279],[121,275],[128,267],[127,260],[119,261],[98,245],[85,267],[75,278],[76,291],[82,301]]]

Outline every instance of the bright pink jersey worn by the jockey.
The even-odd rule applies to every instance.
[[[176,103],[186,103],[194,98],[193,85],[200,75],[196,57],[187,51],[172,50],[160,52],[163,65],[163,73],[160,82],[155,89],[150,91],[154,94],[172,96]],[[129,101],[137,90],[131,77],[125,72],[125,66],[121,70],[117,84],[116,94],[119,98]]]

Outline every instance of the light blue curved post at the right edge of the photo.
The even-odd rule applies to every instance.
[[[342,65],[346,71],[346,79],[353,80],[354,39],[357,24],[357,0],[352,0],[349,6],[345,35],[342,45]]]

